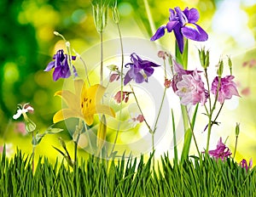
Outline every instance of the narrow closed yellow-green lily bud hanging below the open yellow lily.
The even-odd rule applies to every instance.
[[[96,146],[98,148],[97,155],[100,154],[103,148],[103,145],[105,144],[106,135],[107,135],[107,121],[106,121],[105,115],[102,115],[100,126],[97,131],[97,141],[96,141]]]

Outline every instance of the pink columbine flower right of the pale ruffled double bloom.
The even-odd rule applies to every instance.
[[[232,80],[235,76],[225,76],[220,79],[220,87],[218,90],[218,102],[220,104],[224,103],[225,99],[232,98],[233,95],[240,97],[237,89],[236,83]],[[211,92],[216,95],[218,89],[218,76],[216,76],[212,82]]]

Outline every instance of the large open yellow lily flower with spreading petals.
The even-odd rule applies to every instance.
[[[59,110],[53,117],[54,123],[67,118],[77,117],[84,119],[88,126],[92,125],[95,114],[105,114],[115,117],[115,113],[108,105],[101,104],[106,87],[96,84],[86,87],[84,81],[74,81],[75,93],[68,90],[58,91],[55,96],[60,96],[67,104],[67,109]]]

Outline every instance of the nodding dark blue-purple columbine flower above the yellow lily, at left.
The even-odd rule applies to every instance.
[[[57,81],[59,78],[68,78],[71,73],[69,70],[69,66],[67,63],[67,54],[64,55],[64,51],[58,50],[57,53],[55,53],[55,55],[53,56],[53,59],[55,59],[54,61],[51,61],[46,69],[44,69],[44,71],[49,71],[51,69],[55,69],[53,72],[53,80]],[[72,60],[75,60],[76,56],[72,56]],[[75,69],[75,67],[73,66],[73,73],[75,76],[78,76],[78,73]]]

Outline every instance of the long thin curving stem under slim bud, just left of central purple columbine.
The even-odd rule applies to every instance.
[[[123,47],[123,40],[122,40],[122,34],[121,34],[121,30],[120,30],[120,26],[119,26],[119,23],[116,23],[117,25],[117,28],[118,28],[118,31],[119,31],[119,41],[120,41],[120,48],[121,48],[121,98],[123,98],[123,89],[124,89],[124,61],[125,61],[125,57],[124,57],[124,47]],[[123,110],[123,100],[121,99],[121,103],[120,103],[120,113],[119,113],[119,117],[120,119],[122,118],[122,110]],[[114,141],[113,141],[113,147],[110,151],[110,155],[109,157],[112,156],[113,154],[113,150],[114,150],[114,147],[116,145],[116,142],[117,142],[117,138],[119,136],[119,130],[120,130],[120,126],[121,126],[121,122],[119,121],[119,124],[118,124],[118,128],[117,128],[117,131],[116,131],[116,134],[115,134],[115,138],[114,138]]]

